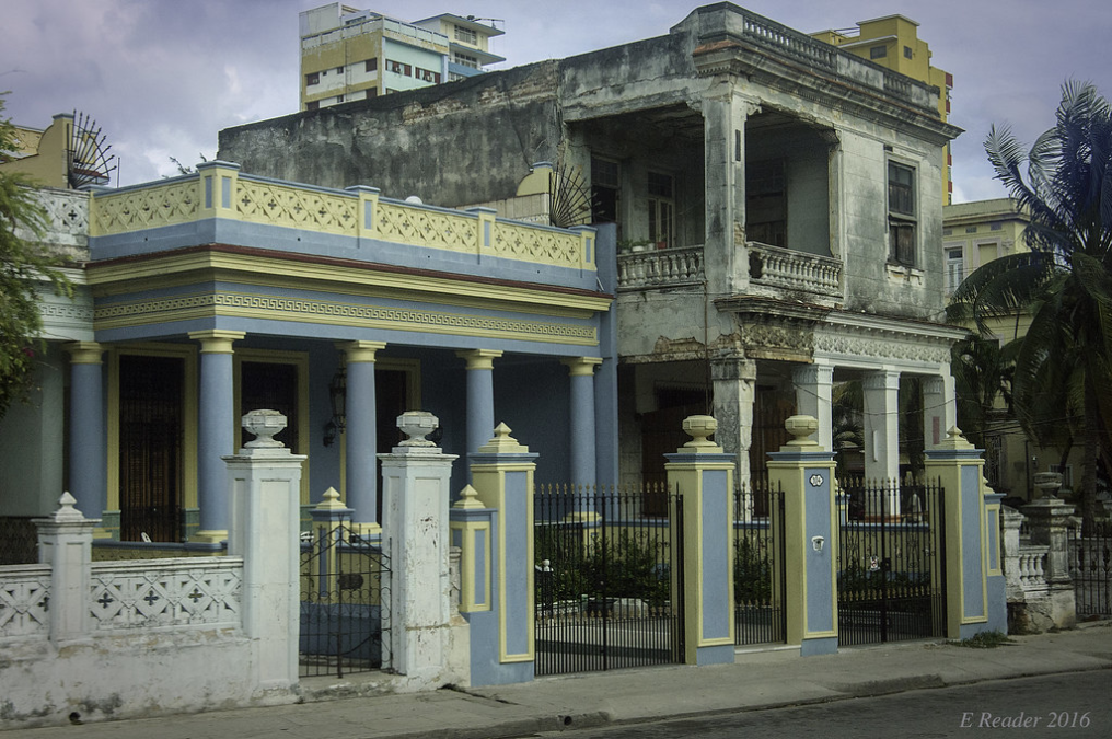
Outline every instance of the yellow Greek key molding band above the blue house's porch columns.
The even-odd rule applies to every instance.
[[[594,326],[237,293],[207,293],[102,305],[96,308],[95,321],[96,327],[102,329],[180,319],[182,314],[197,312],[397,331],[479,334],[569,344],[598,343]]]

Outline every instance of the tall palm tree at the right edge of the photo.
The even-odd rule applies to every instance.
[[[1054,127],[1030,152],[1006,127],[993,126],[984,147],[1031,214],[1031,252],[976,269],[947,317],[972,321],[983,336],[1012,323],[1003,349],[1014,367],[1012,410],[1030,439],[1063,459],[1081,440],[1081,513],[1091,521],[1098,459],[1112,460],[1112,108],[1091,83],[1070,81]]]

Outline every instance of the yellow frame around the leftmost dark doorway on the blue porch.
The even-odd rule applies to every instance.
[[[197,440],[198,440],[198,348],[189,344],[118,344],[108,349],[108,508],[120,510],[120,356],[163,356],[183,359],[185,377],[181,413],[185,428],[181,436],[181,506],[197,508]]]

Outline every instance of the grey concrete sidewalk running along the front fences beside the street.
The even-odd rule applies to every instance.
[[[158,719],[0,732],[3,739],[371,739],[515,737],[536,731],[685,715],[759,710],[984,680],[1112,669],[1112,622],[1013,637],[996,649],[897,643],[801,658],[798,650],[738,653],[734,664],[663,667],[429,693],[318,700]],[[319,696],[358,692],[374,676],[302,682]],[[1108,676],[1112,684],[1112,674]],[[0,698],[2,702],[2,698]]]

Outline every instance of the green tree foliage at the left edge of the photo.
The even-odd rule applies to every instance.
[[[0,161],[9,160],[14,150],[16,128],[0,115]],[[59,294],[71,289],[53,269],[58,258],[41,246],[46,226],[46,214],[27,179],[0,171],[0,416],[13,402],[28,398],[37,355],[46,346],[40,338],[38,285],[51,283]]]

